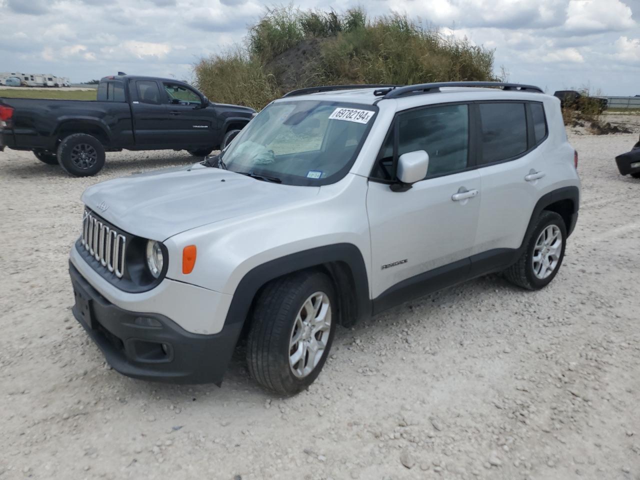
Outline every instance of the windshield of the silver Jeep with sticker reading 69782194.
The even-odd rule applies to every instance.
[[[377,108],[339,102],[274,102],[222,154],[228,170],[291,185],[319,186],[346,175]]]

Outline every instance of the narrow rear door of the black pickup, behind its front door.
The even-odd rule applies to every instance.
[[[155,80],[132,80],[129,83],[131,113],[136,136],[136,147],[166,148],[171,120],[163,104],[160,86]]]

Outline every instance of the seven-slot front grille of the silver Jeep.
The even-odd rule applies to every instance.
[[[88,210],[84,211],[82,244],[103,267],[122,278],[127,239]]]

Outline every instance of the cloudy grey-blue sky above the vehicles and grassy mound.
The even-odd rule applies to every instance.
[[[73,82],[115,74],[191,78],[198,58],[241,42],[257,0],[0,0],[0,72]],[[406,13],[495,48],[510,81],[548,91],[640,94],[640,0],[300,0],[300,8]]]

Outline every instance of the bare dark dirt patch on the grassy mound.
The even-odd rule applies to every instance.
[[[322,63],[322,45],[330,38],[310,38],[282,52],[265,66],[276,77],[282,92],[307,86]]]

